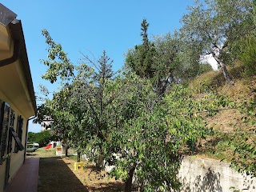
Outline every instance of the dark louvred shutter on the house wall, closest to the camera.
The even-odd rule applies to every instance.
[[[1,148],[0,148],[0,159],[3,161],[4,156],[6,154],[6,139],[7,134],[9,131],[9,116],[10,116],[10,106],[6,103],[2,103],[2,109],[1,109],[1,124],[2,127],[2,134],[1,134]],[[2,162],[1,161],[1,162]],[[0,163],[1,163],[0,162]]]

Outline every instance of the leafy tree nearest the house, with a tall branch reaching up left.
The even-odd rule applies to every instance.
[[[106,141],[109,128],[106,107],[114,98],[114,95],[107,97],[108,84],[114,80],[111,69],[113,61],[103,51],[98,61],[94,62],[83,54],[86,63],[74,66],[62,46],[55,43],[46,30],[42,30],[42,34],[46,37],[50,53],[47,60],[42,60],[48,66],[42,78],[52,83],[59,78],[62,84],[52,99],[46,99],[38,107],[36,121],[43,122],[46,116],[52,119],[54,122],[51,128],[67,146],[73,146],[78,153],[86,147],[86,142],[95,137],[102,150],[102,142]]]

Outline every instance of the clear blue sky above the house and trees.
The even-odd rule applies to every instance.
[[[47,56],[42,29],[50,32],[55,42],[62,44],[69,58],[78,63],[90,52],[98,58],[102,50],[114,59],[114,70],[121,69],[124,54],[142,42],[140,24],[143,18],[150,23],[152,35],[173,32],[181,26],[180,19],[193,0],[2,0],[1,3],[18,14],[22,20],[34,91],[39,94],[39,84],[50,91],[56,85],[42,80],[46,67],[40,62]],[[40,131],[40,126],[30,124],[30,131]]]

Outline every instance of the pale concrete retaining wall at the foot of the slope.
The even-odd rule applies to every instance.
[[[184,158],[179,177],[184,192],[256,191],[256,178],[238,174],[229,164],[213,159]]]

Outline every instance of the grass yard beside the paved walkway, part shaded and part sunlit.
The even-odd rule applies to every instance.
[[[108,178],[105,171],[84,162],[83,170],[74,170],[75,157],[57,157],[55,150],[38,149],[27,158],[40,158],[38,192],[118,192],[124,184]]]

